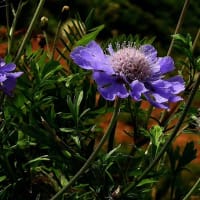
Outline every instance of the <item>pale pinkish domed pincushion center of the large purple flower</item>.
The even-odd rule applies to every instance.
[[[117,75],[125,77],[130,82],[144,81],[151,75],[147,58],[133,47],[125,47],[113,53],[111,65]]]

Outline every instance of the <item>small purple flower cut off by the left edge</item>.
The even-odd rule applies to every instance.
[[[12,95],[12,91],[16,86],[16,79],[23,74],[23,72],[12,72],[15,68],[14,63],[6,64],[0,58],[0,90],[3,90],[9,96]]]

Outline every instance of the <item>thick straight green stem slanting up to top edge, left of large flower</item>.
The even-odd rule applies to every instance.
[[[29,38],[31,36],[31,33],[33,31],[33,28],[34,28],[34,25],[35,25],[39,15],[40,15],[40,12],[42,11],[44,3],[45,3],[45,0],[40,0],[40,2],[38,4],[38,7],[36,8],[35,14],[33,15],[33,18],[32,18],[32,20],[30,22],[29,27],[28,27],[28,30],[27,30],[27,32],[26,32],[26,34],[24,36],[24,39],[22,40],[22,43],[21,43],[21,45],[19,47],[19,50],[18,50],[17,55],[15,57],[14,63],[18,62],[18,60],[19,60],[19,58],[20,58],[20,56],[22,54],[22,51],[23,51],[23,49],[24,49],[24,47],[26,45],[26,42],[29,40]]]

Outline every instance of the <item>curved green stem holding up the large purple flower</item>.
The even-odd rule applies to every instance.
[[[89,168],[89,166],[91,165],[91,163],[93,162],[93,160],[95,159],[97,154],[99,153],[101,147],[103,146],[103,144],[109,137],[110,133],[112,132],[112,130],[116,124],[116,121],[117,121],[119,109],[120,109],[120,99],[116,99],[116,106],[115,106],[114,113],[112,115],[112,119],[110,121],[109,127],[108,127],[106,133],[104,134],[104,136],[102,137],[102,139],[100,140],[95,151],[93,151],[93,153],[90,155],[88,160],[84,163],[84,165],[81,167],[81,169],[73,176],[73,178],[68,182],[68,184],[66,186],[64,186],[58,193],[56,193],[50,200],[58,199]]]

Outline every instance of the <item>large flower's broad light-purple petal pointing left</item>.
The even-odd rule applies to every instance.
[[[90,42],[85,47],[80,46],[75,48],[70,56],[74,62],[83,69],[105,71],[109,74],[114,72],[109,64],[108,57],[94,41]]]

